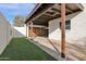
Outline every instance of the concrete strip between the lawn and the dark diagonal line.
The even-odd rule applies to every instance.
[[[65,60],[65,59],[61,59],[59,50],[56,49],[56,47],[53,47],[53,44],[47,38],[37,37],[30,41],[34,42],[36,46],[38,46],[44,51],[46,51],[48,54],[53,56],[54,59]]]

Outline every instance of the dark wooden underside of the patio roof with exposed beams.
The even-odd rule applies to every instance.
[[[27,17],[25,23],[32,21],[36,25],[48,26],[49,21],[61,17],[60,7],[60,3],[42,3],[30,16]],[[83,11],[83,7],[79,3],[65,4],[65,15],[81,11]]]

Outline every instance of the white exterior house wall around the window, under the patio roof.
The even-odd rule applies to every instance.
[[[73,15],[74,14],[66,16],[66,20],[70,20]],[[59,27],[59,22],[61,22],[61,18],[49,22],[50,39],[61,39],[61,29]],[[65,38],[67,41],[82,40],[86,38],[86,9],[71,18],[71,30],[65,30]]]

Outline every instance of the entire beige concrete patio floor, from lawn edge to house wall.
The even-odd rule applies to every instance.
[[[86,61],[86,48],[84,46],[66,42],[66,57],[61,59],[61,41],[37,37],[33,42],[57,60]]]

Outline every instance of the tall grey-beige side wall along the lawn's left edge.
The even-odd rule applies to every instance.
[[[12,27],[0,13],[0,54],[12,39]]]

